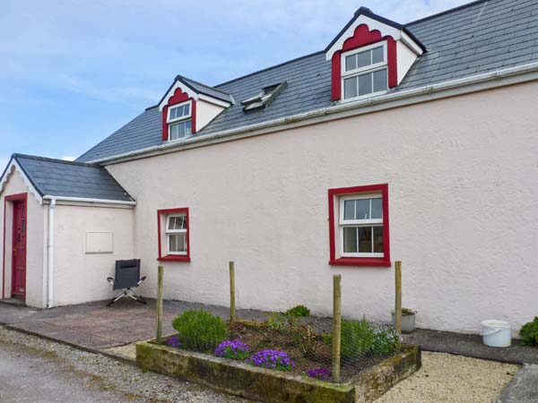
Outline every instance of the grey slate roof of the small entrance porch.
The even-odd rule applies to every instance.
[[[13,154],[24,174],[41,196],[63,196],[109,201],[134,201],[104,167]]]

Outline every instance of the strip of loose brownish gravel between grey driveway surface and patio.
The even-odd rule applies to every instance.
[[[46,339],[0,327],[0,343],[24,356],[46,360],[46,367],[62,370],[70,382],[82,382],[88,390],[120,396],[118,402],[240,403],[240,399],[190,382],[143,371],[134,364],[88,353]],[[58,375],[60,376],[60,375]],[[53,391],[51,390],[51,393]],[[1,400],[1,399],[0,399]]]

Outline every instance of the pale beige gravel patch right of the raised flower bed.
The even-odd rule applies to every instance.
[[[375,403],[490,403],[519,370],[465,356],[422,352],[422,368]]]

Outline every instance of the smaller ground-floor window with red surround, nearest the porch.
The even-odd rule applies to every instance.
[[[158,230],[159,260],[190,262],[188,209],[159,210]]]

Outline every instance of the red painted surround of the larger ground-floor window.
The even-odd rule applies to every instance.
[[[383,257],[336,257],[336,224],[337,214],[334,210],[334,199],[339,196],[357,193],[380,192],[383,198]],[[390,237],[388,234],[388,184],[369,184],[367,186],[341,187],[329,189],[329,246],[331,253],[330,265],[333,266],[369,266],[369,267],[391,267],[390,262]]]

